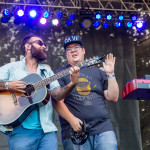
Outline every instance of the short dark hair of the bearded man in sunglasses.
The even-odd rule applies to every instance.
[[[39,37],[39,38],[43,39],[41,36],[34,34],[34,33],[29,33],[29,34],[25,35],[21,41],[21,51],[24,56],[25,56],[25,44],[29,43],[29,41],[32,37]]]

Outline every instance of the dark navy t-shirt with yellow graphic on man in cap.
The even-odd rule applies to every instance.
[[[70,65],[66,65],[62,69],[69,67]],[[58,81],[61,86],[65,86],[70,82],[70,75]],[[89,124],[90,135],[113,130],[104,98],[104,91],[107,87],[108,80],[104,71],[94,67],[84,67],[80,69],[78,84],[64,100],[74,116]],[[70,125],[62,117],[59,116],[59,119],[64,140],[70,137]]]

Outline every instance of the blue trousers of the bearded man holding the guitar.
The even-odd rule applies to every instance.
[[[58,150],[55,132],[44,133],[40,130],[17,127],[8,133],[9,150]]]

